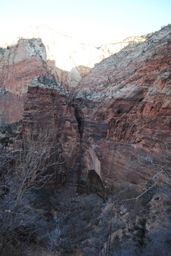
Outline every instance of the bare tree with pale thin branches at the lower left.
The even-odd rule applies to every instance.
[[[62,164],[58,162],[58,146],[50,138],[50,133],[40,130],[39,134],[22,137],[19,150],[13,152],[14,166],[3,171],[3,184],[6,194],[0,198],[2,209],[0,213],[0,232],[2,233],[0,255],[7,245],[17,237],[17,230],[25,226],[23,231],[33,231],[34,217],[28,214],[24,206],[26,194],[33,188],[40,188],[50,182],[52,174],[48,173],[51,166]],[[10,161],[9,154],[1,158],[1,170],[4,163]],[[32,226],[32,228],[30,227]]]

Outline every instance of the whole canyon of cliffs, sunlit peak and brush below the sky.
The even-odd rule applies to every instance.
[[[171,25],[101,47],[40,26],[2,46],[0,255],[169,255],[170,116]]]

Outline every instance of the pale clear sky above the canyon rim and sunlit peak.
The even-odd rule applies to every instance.
[[[171,23],[171,0],[0,0],[0,43],[47,25],[96,46]]]

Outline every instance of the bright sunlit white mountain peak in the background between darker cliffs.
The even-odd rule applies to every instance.
[[[117,53],[132,41],[144,40],[141,37],[126,38],[123,42],[97,47],[59,34],[48,26],[28,27],[19,38],[42,38],[46,46],[47,64],[58,82],[62,82],[62,86],[68,90],[77,86],[82,77],[102,59]]]

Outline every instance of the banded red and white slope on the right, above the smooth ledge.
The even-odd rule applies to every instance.
[[[105,139],[153,150],[169,142],[170,32],[168,26],[146,35],[145,42],[133,42],[100,62],[77,86],[75,98],[99,102],[88,116],[106,126]]]

